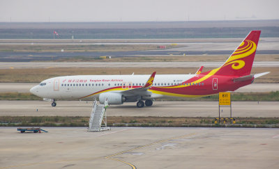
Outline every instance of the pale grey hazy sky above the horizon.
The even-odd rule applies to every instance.
[[[279,19],[278,0],[0,0],[0,22]]]

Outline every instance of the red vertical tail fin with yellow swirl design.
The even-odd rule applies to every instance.
[[[216,75],[246,76],[252,69],[261,31],[251,31],[227,61],[217,69]]]

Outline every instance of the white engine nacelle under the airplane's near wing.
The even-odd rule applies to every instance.
[[[107,98],[108,104],[123,104],[125,97],[116,92],[104,92],[99,95],[100,104],[105,104],[105,98]]]

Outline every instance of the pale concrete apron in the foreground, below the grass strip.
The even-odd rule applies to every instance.
[[[278,168],[278,129],[43,127],[0,131],[0,168]]]

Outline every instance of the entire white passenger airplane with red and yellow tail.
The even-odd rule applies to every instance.
[[[249,85],[262,74],[250,74],[261,31],[251,31],[225,63],[208,72],[202,67],[196,74],[150,75],[77,75],[54,77],[42,81],[30,92],[52,99],[94,99],[103,104],[137,102],[137,107],[151,106],[153,99],[163,97],[204,97],[218,92],[234,91]],[[148,64],[148,63],[146,63]],[[155,76],[156,75],[156,76]],[[144,103],[145,101],[145,103]]]

